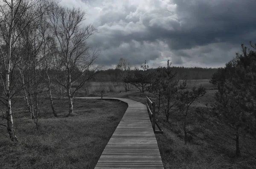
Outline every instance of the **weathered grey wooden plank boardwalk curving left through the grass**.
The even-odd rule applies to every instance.
[[[125,98],[104,99],[121,100],[128,103],[128,109],[108,141],[95,169],[163,169],[146,106]]]

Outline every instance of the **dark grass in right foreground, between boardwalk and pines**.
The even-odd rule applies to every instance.
[[[157,115],[163,134],[156,134],[165,169],[253,169],[256,160],[248,155],[244,140],[240,140],[240,158],[235,157],[233,132],[210,115],[209,109],[193,107],[188,118],[189,143],[184,144],[181,121],[172,118],[166,122],[163,114]],[[198,112],[201,111],[201,112]],[[209,113],[209,114],[208,114]],[[173,117],[173,116],[172,116]],[[251,144],[250,149],[256,145]],[[255,153],[255,152],[254,152]]]

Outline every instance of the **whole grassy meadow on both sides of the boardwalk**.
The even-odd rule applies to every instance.
[[[182,82],[180,80],[180,82]],[[207,93],[189,110],[188,144],[184,144],[179,112],[172,112],[169,122],[163,112],[157,112],[162,134],[155,134],[165,169],[253,169],[256,168],[256,144],[243,137],[241,157],[235,156],[233,130],[212,111],[216,89],[209,80],[188,80],[188,88],[203,85]],[[134,86],[125,92],[118,82],[92,82],[76,97],[122,97],[146,103],[148,92],[140,93]],[[57,96],[57,95],[56,95]],[[17,127],[18,143],[7,138],[0,140],[0,163],[3,169],[12,168],[86,168],[93,169],[105,145],[122,118],[127,105],[114,100],[75,99],[74,115],[68,113],[67,100],[54,99],[59,115],[53,117],[45,100],[42,105],[40,130],[32,120],[23,120]],[[16,112],[24,104],[17,103]],[[146,112],[145,112],[146,113]],[[27,117],[26,111],[22,114]]]

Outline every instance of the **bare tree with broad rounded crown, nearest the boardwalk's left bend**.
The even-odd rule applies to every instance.
[[[83,26],[84,11],[52,4],[49,20],[58,46],[55,58],[55,77],[69,98],[69,114],[73,113],[73,97],[84,83],[90,80],[99,66],[93,66],[98,57],[97,50],[90,50],[87,39],[97,32],[92,25]],[[72,89],[72,85],[76,87]]]

